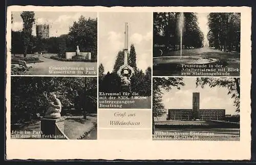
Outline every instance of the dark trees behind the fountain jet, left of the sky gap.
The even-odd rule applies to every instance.
[[[155,12],[153,14],[154,56],[158,56],[156,54],[159,53],[159,49],[163,53],[167,53],[179,48],[181,39],[178,24],[181,16],[181,13],[176,12]],[[182,23],[184,24],[182,29],[182,45],[185,47],[202,47],[204,36],[199,28],[196,13],[184,13],[184,22]]]

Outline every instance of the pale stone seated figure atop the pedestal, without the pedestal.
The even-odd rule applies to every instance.
[[[49,107],[45,114],[45,118],[59,118],[61,112],[61,102],[54,93],[50,93]]]

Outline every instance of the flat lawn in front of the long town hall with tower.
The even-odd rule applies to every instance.
[[[157,121],[153,140],[239,141],[240,128],[223,123],[226,122]]]

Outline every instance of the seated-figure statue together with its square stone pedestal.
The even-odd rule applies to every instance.
[[[41,131],[44,137],[48,139],[63,139],[60,136],[66,136],[64,132],[64,125],[66,117],[61,117],[61,102],[55,93],[50,93],[48,100],[48,108],[44,118],[41,119]],[[59,135],[59,136],[57,136]],[[56,137],[55,137],[56,136]]]

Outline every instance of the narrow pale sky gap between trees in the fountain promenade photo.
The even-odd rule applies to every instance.
[[[197,13],[198,25],[204,34],[204,42],[208,42],[208,40],[207,40],[207,33],[209,31],[209,26],[207,24],[207,22],[208,22],[207,16],[208,15],[209,15],[209,13]]]

